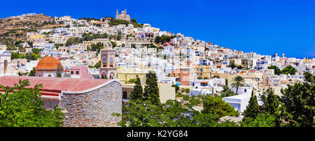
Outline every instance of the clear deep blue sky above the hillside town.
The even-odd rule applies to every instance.
[[[0,17],[43,13],[73,18],[115,17],[244,52],[315,57],[315,1],[307,0],[0,0]]]

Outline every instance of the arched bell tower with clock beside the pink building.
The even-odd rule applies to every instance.
[[[114,79],[117,77],[116,50],[111,48],[111,43],[106,43],[106,47],[101,50],[101,67],[99,77],[102,79]]]

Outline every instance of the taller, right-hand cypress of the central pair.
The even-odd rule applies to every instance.
[[[155,73],[146,74],[146,86],[144,87],[144,101],[150,100],[153,105],[160,105],[158,77]]]

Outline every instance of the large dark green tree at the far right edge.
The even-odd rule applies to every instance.
[[[286,126],[311,127],[314,126],[315,116],[315,85],[307,82],[288,84],[288,88],[281,89],[280,101],[283,105],[281,117],[288,122]]]

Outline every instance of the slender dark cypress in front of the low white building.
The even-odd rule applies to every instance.
[[[257,96],[253,94],[251,91],[251,99],[248,101],[248,105],[246,106],[246,110],[243,112],[244,117],[255,118],[259,113]]]

